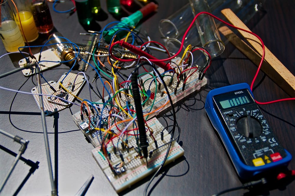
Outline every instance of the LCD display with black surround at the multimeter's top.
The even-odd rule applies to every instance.
[[[247,103],[253,103],[253,99],[250,97],[247,89],[214,96],[214,100],[220,109],[230,109]]]

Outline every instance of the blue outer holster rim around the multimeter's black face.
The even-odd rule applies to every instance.
[[[232,144],[232,141],[227,135],[227,132],[222,125],[222,122],[219,119],[219,116],[214,108],[212,98],[215,95],[223,94],[225,92],[230,92],[230,91],[237,91],[237,90],[245,89],[245,88],[249,90],[250,94],[254,98],[253,93],[250,90],[250,86],[247,83],[234,84],[234,85],[225,86],[225,87],[221,87],[221,88],[217,88],[217,89],[209,91],[209,93],[207,94],[206,102],[205,102],[205,110],[214,129],[217,130],[219,137],[224,143],[224,146],[227,150],[227,153],[230,155],[230,159],[235,167],[236,172],[242,179],[250,179],[259,173],[270,170],[272,167],[287,167],[292,159],[292,155],[285,149],[287,156],[283,160],[269,163],[267,165],[261,165],[258,167],[245,165],[242,162],[242,160],[240,159],[240,156],[236,152],[234,145]]]

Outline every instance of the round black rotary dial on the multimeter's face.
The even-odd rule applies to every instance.
[[[237,132],[247,138],[257,138],[262,132],[260,122],[250,115],[245,115],[237,120]]]

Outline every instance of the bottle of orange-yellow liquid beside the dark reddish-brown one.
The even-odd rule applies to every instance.
[[[17,25],[22,32],[23,38],[25,36],[28,42],[35,41],[38,38],[39,34],[31,11],[30,0],[14,0],[14,3],[16,4],[18,10],[17,14],[17,11],[12,4],[15,21],[17,22]],[[22,23],[22,28],[19,19]]]

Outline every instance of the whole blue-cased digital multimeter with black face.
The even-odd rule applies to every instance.
[[[242,179],[288,166],[292,156],[278,142],[247,83],[209,91],[205,110]]]

